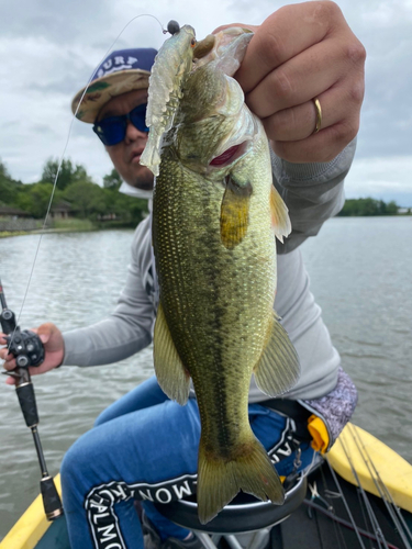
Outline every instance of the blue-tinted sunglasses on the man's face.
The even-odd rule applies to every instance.
[[[131,110],[127,114],[121,116],[109,116],[96,122],[93,132],[103,143],[103,145],[111,146],[121,143],[126,135],[127,122],[131,121],[134,127],[141,132],[148,132],[146,126],[146,108],[147,103],[140,104]]]

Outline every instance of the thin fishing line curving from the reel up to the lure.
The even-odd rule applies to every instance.
[[[24,292],[24,295],[23,295],[23,302],[22,302],[22,305],[20,307],[20,311],[19,311],[19,314],[18,314],[18,322],[16,324],[20,323],[20,317],[22,315],[22,312],[23,312],[23,307],[25,305],[25,302],[26,302],[26,298],[27,298],[27,294],[29,294],[29,289],[30,289],[30,284],[31,284],[31,281],[32,281],[32,278],[33,278],[33,272],[34,272],[34,267],[35,267],[35,264],[37,261],[37,256],[38,256],[38,251],[40,251],[40,247],[41,247],[41,244],[42,244],[42,239],[43,239],[43,236],[44,236],[44,231],[46,228],[46,225],[47,225],[47,221],[48,221],[48,216],[49,216],[49,213],[51,213],[51,209],[52,209],[52,203],[53,203],[53,199],[54,199],[54,195],[55,195],[55,191],[56,191],[56,186],[57,186],[57,180],[58,180],[58,176],[60,175],[60,170],[62,170],[62,165],[63,165],[63,160],[65,158],[65,154],[66,154],[66,150],[67,150],[67,147],[68,147],[68,143],[69,143],[69,139],[70,139],[70,135],[71,135],[71,128],[73,128],[73,123],[74,121],[76,120],[76,115],[78,113],[78,110],[80,108],[80,104],[81,104],[81,101],[83,100],[83,97],[85,94],[87,93],[87,90],[89,89],[89,86],[92,81],[92,78],[93,76],[96,75],[96,71],[97,69],[99,68],[99,66],[103,63],[103,60],[105,59],[105,57],[109,55],[109,53],[113,49],[115,43],[119,41],[120,36],[124,33],[124,31],[127,29],[127,26],[133,23],[133,21],[135,21],[136,19],[140,19],[140,18],[153,18],[155,21],[158,22],[158,24],[160,25],[160,29],[162,29],[162,32],[163,34],[166,34],[168,31],[166,29],[164,29],[163,24],[160,23],[160,21],[155,16],[155,15],[152,15],[151,13],[142,13],[141,15],[136,15],[134,18],[132,18],[124,26],[123,29],[120,31],[120,33],[118,34],[118,36],[114,38],[114,41],[112,42],[112,44],[110,45],[110,47],[108,48],[108,51],[105,52],[105,54],[102,56],[102,58],[100,59],[100,61],[98,63],[98,65],[94,67],[93,71],[91,72],[91,76],[86,85],[86,88],[80,97],[80,100],[78,102],[78,105],[76,108],[76,111],[74,112],[74,114],[71,115],[71,121],[70,121],[70,125],[69,125],[69,130],[68,130],[68,133],[67,133],[67,138],[66,138],[66,143],[65,143],[65,146],[63,148],[63,153],[60,155],[60,158],[59,158],[59,163],[58,163],[58,167],[57,167],[57,171],[56,171],[56,176],[54,178],[54,182],[53,182],[53,189],[52,189],[52,194],[51,194],[51,199],[48,201],[48,205],[47,205],[47,210],[46,210],[46,215],[44,217],[44,222],[43,222],[43,226],[42,226],[42,233],[40,235],[40,238],[38,238],[38,244],[37,244],[37,247],[36,247],[36,250],[35,250],[35,254],[34,254],[34,260],[33,260],[33,265],[32,265],[32,268],[31,268],[31,271],[30,271],[30,274],[29,274],[29,281],[27,281],[27,285],[26,285],[26,289],[25,289],[25,292]],[[13,338],[14,338],[14,333],[15,330],[13,332],[13,334],[11,335],[11,343],[13,341]]]

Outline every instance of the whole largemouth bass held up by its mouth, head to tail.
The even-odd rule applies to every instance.
[[[156,143],[147,145],[146,158],[156,156],[149,149],[158,144],[162,112],[168,112],[153,204],[160,288],[154,363],[162,389],[180,404],[193,381],[201,418],[198,513],[204,524],[240,490],[283,502],[279,477],[249,426],[248,390],[254,373],[265,393],[279,395],[300,370],[274,311],[275,235],[289,234],[288,211],[272,186],[263,124],[232,78],[252,33],[230,29],[194,47],[193,36],[185,26],[159,51],[153,81],[162,79],[156,66],[177,65],[174,55],[189,70],[171,79],[179,89],[176,108],[151,109],[146,123]],[[151,108],[156,86],[148,93]]]

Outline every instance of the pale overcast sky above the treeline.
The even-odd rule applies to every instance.
[[[287,3],[287,2],[285,2]],[[412,0],[337,1],[367,51],[366,97],[347,198],[374,197],[412,206]],[[272,0],[0,0],[0,158],[15,179],[38,180],[63,154],[70,101],[133,18],[151,13],[191,24],[202,38],[224,23],[261,23]],[[152,18],[135,19],[114,49],[158,48]],[[66,157],[94,181],[111,164],[91,126],[75,121]]]

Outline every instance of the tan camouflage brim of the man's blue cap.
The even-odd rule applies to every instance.
[[[112,98],[115,98],[121,93],[126,93],[127,91],[148,88],[149,76],[151,72],[148,70],[129,69],[119,70],[116,72],[112,72],[111,75],[97,78],[88,87],[82,99],[81,96],[83,94],[87,86],[76,93],[74,100],[71,101],[71,111],[76,114],[77,119],[81,120],[81,122],[93,124],[100,109]],[[81,103],[76,113],[80,99]]]

